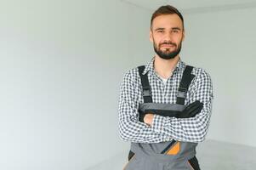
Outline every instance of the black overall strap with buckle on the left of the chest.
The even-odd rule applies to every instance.
[[[142,74],[143,71],[145,70],[145,65],[141,65],[138,68],[139,68],[139,77],[142,85],[144,103],[152,103],[153,99],[151,95],[151,85],[147,77],[147,73],[145,75]]]

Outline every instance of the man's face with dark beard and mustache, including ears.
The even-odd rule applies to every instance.
[[[151,26],[150,39],[156,54],[162,59],[174,59],[185,37],[182,20],[177,14],[157,16]]]

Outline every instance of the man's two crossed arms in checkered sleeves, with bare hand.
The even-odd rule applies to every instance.
[[[121,85],[119,99],[119,130],[123,140],[135,143],[159,143],[169,137],[186,142],[202,142],[208,132],[213,102],[213,87],[206,72],[197,77],[188,93],[187,105],[199,100],[202,111],[191,118],[175,118],[147,114],[138,121],[139,90],[128,72]]]

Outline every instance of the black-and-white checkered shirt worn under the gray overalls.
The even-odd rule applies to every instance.
[[[185,63],[179,59],[173,75],[166,85],[154,71],[154,57],[145,66],[143,74],[148,72],[153,103],[176,104],[179,82]],[[150,125],[139,122],[139,104],[142,104],[142,86],[139,69],[126,72],[120,89],[118,118],[119,133],[122,140],[134,143],[160,143],[172,139],[185,142],[202,142],[208,133],[208,126],[213,103],[213,85],[210,76],[202,68],[194,67],[195,75],[185,98],[185,105],[199,100],[203,103],[202,111],[191,118],[176,118],[154,115]]]

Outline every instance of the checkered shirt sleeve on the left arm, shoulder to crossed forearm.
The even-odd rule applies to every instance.
[[[139,87],[138,69],[128,71],[121,83],[118,116],[119,133],[122,140],[134,143],[159,143],[162,141],[162,134],[153,131],[151,126],[139,122]],[[136,79],[136,80],[135,80]]]

